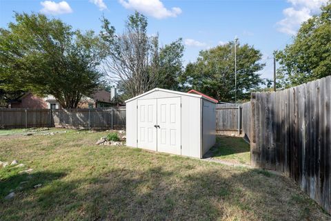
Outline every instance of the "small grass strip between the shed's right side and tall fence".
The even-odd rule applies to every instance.
[[[241,137],[217,136],[212,151],[214,159],[250,165],[250,144]]]

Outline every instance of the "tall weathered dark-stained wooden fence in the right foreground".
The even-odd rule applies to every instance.
[[[331,213],[331,76],[252,93],[252,165],[292,177]]]

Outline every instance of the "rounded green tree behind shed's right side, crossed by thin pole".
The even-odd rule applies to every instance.
[[[259,63],[262,54],[253,46],[237,43],[237,99],[246,99],[250,91],[263,83],[257,73],[265,64]],[[234,42],[201,50],[196,62],[185,68],[181,83],[189,88],[206,93],[221,102],[233,102]]]

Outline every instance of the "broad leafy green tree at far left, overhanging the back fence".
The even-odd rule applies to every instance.
[[[41,14],[16,13],[15,19],[0,30],[0,87],[53,95],[63,108],[77,108],[101,82],[99,37]]]

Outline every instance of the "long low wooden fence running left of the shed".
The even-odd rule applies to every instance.
[[[0,128],[125,128],[126,109],[0,109]]]

